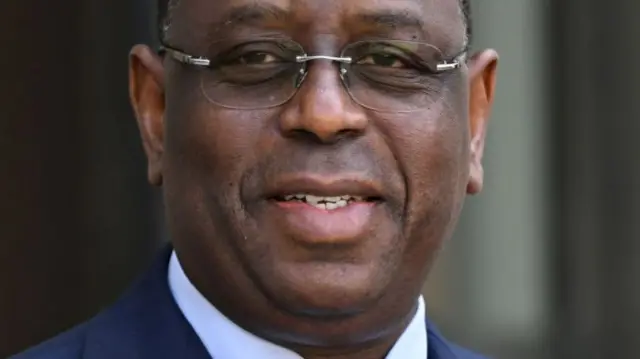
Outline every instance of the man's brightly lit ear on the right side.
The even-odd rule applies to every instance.
[[[470,162],[467,193],[476,194],[482,190],[484,153],[487,125],[493,106],[496,85],[498,54],[494,50],[477,53],[469,60],[469,129]]]

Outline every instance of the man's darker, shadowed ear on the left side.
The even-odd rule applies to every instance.
[[[164,67],[146,45],[129,54],[129,97],[147,155],[147,175],[152,185],[162,185],[164,152]]]

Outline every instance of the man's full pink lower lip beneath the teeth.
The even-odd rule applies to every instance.
[[[326,210],[304,202],[273,201],[296,240],[309,244],[357,242],[372,228],[376,202],[351,202]],[[275,213],[274,213],[275,214]]]

